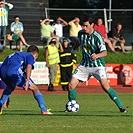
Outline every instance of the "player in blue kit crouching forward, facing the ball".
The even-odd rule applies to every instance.
[[[30,89],[33,92],[43,115],[52,114],[47,111],[41,92],[30,78],[38,54],[39,49],[35,45],[31,45],[28,47],[27,52],[15,52],[2,63],[0,77],[7,87],[0,98],[0,114],[2,114],[3,104],[8,100],[16,86],[22,87],[24,90]]]

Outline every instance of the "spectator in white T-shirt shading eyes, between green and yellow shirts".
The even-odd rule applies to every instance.
[[[58,17],[56,23],[53,24],[53,30],[55,31],[55,35],[58,37],[63,37],[63,27],[67,26],[68,23],[63,20],[61,17]]]

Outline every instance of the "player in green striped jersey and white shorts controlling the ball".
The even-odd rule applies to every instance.
[[[108,84],[105,61],[103,58],[107,55],[106,46],[101,34],[94,30],[93,26],[94,20],[89,16],[84,17],[84,28],[78,33],[79,43],[73,47],[73,50],[75,50],[80,46],[83,58],[69,82],[68,99],[70,101],[75,100],[75,87],[80,81],[87,81],[93,76],[100,82],[102,89],[115,102],[120,112],[127,112],[117,92]]]

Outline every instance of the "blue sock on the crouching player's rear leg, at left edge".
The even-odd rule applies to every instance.
[[[5,103],[5,101],[10,97],[12,93],[12,90],[6,88],[4,91],[3,91],[3,94],[1,96],[1,99],[0,99],[0,108],[2,108],[2,105]]]

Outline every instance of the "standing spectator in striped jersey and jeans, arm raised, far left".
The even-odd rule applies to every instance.
[[[6,27],[8,25],[8,11],[13,8],[13,5],[3,0],[0,0],[0,42],[4,45],[6,36]]]

